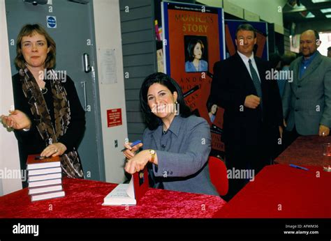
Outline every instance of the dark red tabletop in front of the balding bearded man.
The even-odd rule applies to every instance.
[[[331,136],[305,136],[298,137],[275,162],[279,164],[297,164],[309,166],[323,166],[331,164],[330,160],[323,158],[323,143],[330,143]]]

